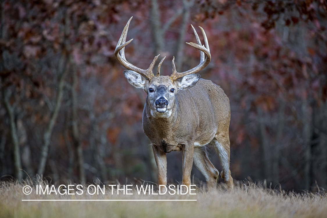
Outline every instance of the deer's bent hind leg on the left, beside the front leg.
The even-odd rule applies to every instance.
[[[193,162],[205,177],[208,189],[215,189],[219,172],[208,158],[205,146],[194,148]]]

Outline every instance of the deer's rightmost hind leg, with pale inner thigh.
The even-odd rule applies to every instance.
[[[231,176],[231,171],[229,170],[230,162],[230,142],[229,136],[227,134],[217,133],[213,139],[213,145],[219,156],[220,165],[222,172],[220,174],[221,178],[224,179],[229,190],[234,188],[233,178]]]

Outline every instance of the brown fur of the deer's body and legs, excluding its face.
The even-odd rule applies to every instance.
[[[169,86],[173,83],[166,76],[154,77],[150,85]],[[229,188],[233,188],[233,180],[229,170],[230,142],[230,104],[224,91],[209,80],[200,79],[197,84],[188,90],[180,90],[175,95],[172,103],[172,113],[169,117],[154,117],[151,114],[152,101],[146,98],[143,111],[143,129],[150,139],[155,160],[158,167],[159,185],[167,184],[166,153],[182,151],[184,185],[191,183],[191,170],[194,161],[196,167],[205,176],[209,188],[215,188],[219,176],[218,171],[210,162],[206,153],[205,145],[215,142],[222,145],[226,154],[225,162],[220,158],[223,167],[223,175],[229,175],[225,182]],[[194,143],[201,146],[194,146]],[[217,153],[219,149],[216,149]],[[222,152],[223,153],[223,152]],[[219,155],[219,153],[218,153]],[[228,162],[226,162],[228,161]]]

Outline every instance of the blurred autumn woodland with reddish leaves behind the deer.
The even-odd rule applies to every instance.
[[[167,56],[162,75],[171,74],[173,56],[178,71],[198,64],[198,50],[185,42],[196,42],[191,24],[202,40],[197,26],[205,30],[212,61],[200,74],[230,99],[235,180],[326,189],[326,6],[1,0],[0,180],[39,174],[58,183],[157,182],[142,127],[146,93],[128,84],[113,55],[133,16],[126,59],[147,69],[154,56]],[[167,154],[167,162],[168,182],[180,182],[181,153]],[[205,182],[195,167],[191,181]]]

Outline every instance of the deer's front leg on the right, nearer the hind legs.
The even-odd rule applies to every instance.
[[[190,187],[191,185],[191,171],[193,166],[193,152],[194,144],[185,145],[182,148],[182,157],[183,157],[183,178],[182,184]]]

